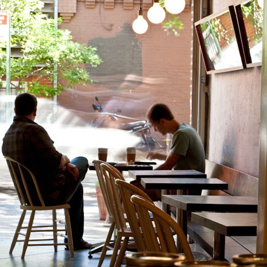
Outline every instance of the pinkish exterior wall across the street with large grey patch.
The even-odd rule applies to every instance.
[[[77,1],[70,22],[60,26],[71,31],[74,41],[98,47],[103,63],[87,69],[98,81],[77,86],[58,97],[59,104],[90,120],[94,97],[98,96],[107,111],[122,108],[122,115],[144,119],[148,107],[163,102],[180,122],[190,124],[193,22],[191,8],[179,15],[184,24],[180,36],[167,34],[161,25],[148,21],[148,30],[136,34],[131,29],[139,4],[123,9],[122,3],[105,9],[103,3],[86,8]],[[166,137],[158,136],[160,140]]]

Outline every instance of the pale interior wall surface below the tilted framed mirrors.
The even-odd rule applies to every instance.
[[[214,0],[213,12],[233,3]],[[206,157],[258,177],[261,67],[210,78]]]

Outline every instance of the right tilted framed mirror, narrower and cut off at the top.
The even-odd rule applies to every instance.
[[[242,0],[235,4],[246,67],[261,65],[263,9],[258,0]]]

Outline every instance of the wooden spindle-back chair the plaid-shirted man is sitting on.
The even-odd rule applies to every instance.
[[[24,258],[28,246],[40,246],[40,245],[53,245],[55,252],[58,251],[58,245],[66,245],[69,247],[70,256],[73,257],[73,242],[72,242],[70,218],[69,218],[69,211],[68,211],[68,209],[70,208],[69,204],[46,206],[43,200],[43,197],[40,193],[40,189],[39,189],[39,186],[37,184],[34,174],[24,165],[13,160],[12,158],[10,157],[5,157],[5,158],[9,166],[10,175],[14,183],[18,199],[21,202],[20,208],[23,210],[20,221],[18,222],[18,225],[16,228],[16,232],[13,237],[13,241],[11,243],[9,253],[13,252],[16,242],[24,241],[22,258]],[[30,184],[34,185],[35,192],[29,192],[29,188],[31,186]],[[40,202],[40,205],[35,205],[33,203],[32,196],[34,195],[34,193],[36,193],[35,195],[37,197],[37,201]],[[56,219],[57,209],[64,209],[65,222],[62,220]],[[34,225],[33,226],[33,220],[34,220],[34,215],[36,211],[50,211],[50,210],[52,211],[52,224],[51,225],[36,225],[36,226]],[[27,211],[31,211],[28,226],[22,226]],[[58,229],[57,223],[64,224],[66,228]],[[21,232],[22,229],[26,229],[26,234]],[[67,235],[58,233],[61,231],[66,232]],[[53,232],[53,238],[30,239],[30,235],[32,232]],[[25,239],[18,240],[17,239],[18,235],[25,236]],[[58,236],[68,238],[68,242],[58,243]],[[47,243],[47,242],[36,243],[37,241],[51,241],[51,240],[53,240],[52,243]]]

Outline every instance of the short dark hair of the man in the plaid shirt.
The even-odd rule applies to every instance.
[[[30,113],[36,108],[37,99],[33,94],[20,93],[15,99],[15,113],[16,115],[30,115]]]

